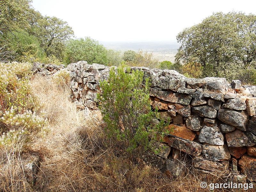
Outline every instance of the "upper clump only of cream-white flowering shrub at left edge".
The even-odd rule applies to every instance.
[[[35,107],[28,80],[31,67],[28,62],[0,63],[0,111],[14,107],[17,113],[24,113]]]

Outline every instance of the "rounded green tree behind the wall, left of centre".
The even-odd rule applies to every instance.
[[[88,64],[108,64],[107,49],[90,37],[70,39],[66,46],[65,63],[85,60]]]

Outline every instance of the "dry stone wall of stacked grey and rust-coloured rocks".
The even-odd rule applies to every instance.
[[[99,83],[108,78],[110,68],[86,61],[68,65],[78,108],[97,109]],[[256,86],[217,77],[187,78],[175,70],[132,69],[150,78],[152,107],[172,121],[173,132],[163,143],[168,149],[158,155],[165,159],[166,173],[177,175],[170,167],[184,152],[198,171],[239,171],[256,181]]]

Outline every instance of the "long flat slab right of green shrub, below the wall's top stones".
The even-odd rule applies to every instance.
[[[184,105],[189,105],[192,99],[191,95],[185,95],[172,91],[161,91],[153,88],[149,89],[149,95],[155,96],[161,100],[169,101],[172,103],[180,103]]]

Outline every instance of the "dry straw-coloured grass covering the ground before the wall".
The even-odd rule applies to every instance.
[[[220,175],[197,176],[186,166],[180,178],[169,179],[139,155],[123,151],[122,143],[106,138],[100,115],[77,111],[69,100],[67,86],[58,86],[51,78],[41,76],[36,76],[32,85],[41,115],[48,119],[42,131],[34,135],[35,142],[28,151],[22,152],[40,154],[37,181],[34,185],[26,181],[19,164],[21,153],[3,151],[0,191],[202,192],[210,191],[200,188],[202,181],[223,182]]]

